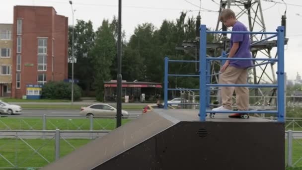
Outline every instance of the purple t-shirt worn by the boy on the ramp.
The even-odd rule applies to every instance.
[[[232,31],[247,31],[247,28],[241,22],[237,21],[234,24]],[[239,42],[239,48],[234,54],[233,58],[252,58],[250,52],[251,42],[249,34],[231,34],[230,48],[235,42]],[[251,60],[230,60],[229,65],[236,68],[247,68],[253,64]]]

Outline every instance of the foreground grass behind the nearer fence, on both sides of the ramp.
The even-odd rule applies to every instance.
[[[48,162],[55,161],[54,139],[24,139],[24,141],[38,150]],[[90,140],[68,139],[75,148],[87,144]],[[298,140],[302,142],[302,139]],[[0,139],[0,154],[3,155],[11,164],[18,167],[43,167],[48,164],[41,156],[35,153],[25,142],[19,139]],[[60,158],[68,155],[74,148],[66,141],[60,141]],[[302,157],[302,146],[298,142],[293,142],[293,164]],[[287,158],[287,156],[286,156]],[[0,167],[12,167],[7,161],[0,157]],[[298,163],[296,168],[287,168],[286,170],[302,170],[302,163]]]

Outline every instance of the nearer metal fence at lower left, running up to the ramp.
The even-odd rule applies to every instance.
[[[0,169],[38,169],[110,131],[0,130]]]

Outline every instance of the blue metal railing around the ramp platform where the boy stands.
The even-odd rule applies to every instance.
[[[207,34],[212,33],[237,33],[237,34],[271,34],[272,36],[265,38],[263,40],[254,42],[251,45],[255,45],[260,42],[264,42],[271,38],[277,37],[277,54],[278,58],[227,58],[227,53],[223,52],[220,57],[207,57]],[[168,57],[165,57],[165,68],[164,68],[164,108],[167,108],[169,104],[168,101],[168,90],[199,90],[199,113],[200,120],[206,120],[207,113],[267,113],[267,114],[277,114],[277,118],[279,122],[284,122],[284,113],[285,113],[285,74],[284,74],[284,26],[279,26],[276,32],[247,32],[247,31],[207,31],[206,25],[200,26],[200,53],[199,53],[199,61],[181,61],[181,60],[169,60]],[[251,60],[251,61],[263,61],[263,63],[254,65],[252,67],[257,67],[270,63],[278,63],[277,67],[277,84],[273,85],[254,85],[254,84],[211,84],[210,79],[211,76],[218,75],[220,73],[216,73],[211,75],[211,61],[219,60],[222,61],[222,64],[226,60]],[[168,63],[169,62],[198,62],[199,63],[199,75],[175,75],[168,74]],[[178,77],[199,77],[199,89],[187,89],[187,88],[168,88],[168,76],[178,76]],[[246,86],[246,87],[274,87],[278,89],[277,92],[277,110],[271,111],[212,111],[207,110],[207,107],[210,105],[210,86]],[[184,103],[186,104],[186,103]],[[189,103],[192,104],[192,103]]]

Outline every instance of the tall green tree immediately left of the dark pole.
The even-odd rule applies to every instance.
[[[94,69],[94,89],[96,99],[103,100],[104,81],[111,79],[110,66],[116,56],[116,42],[109,21],[103,20],[102,25],[96,31],[95,44],[91,49],[92,65]]]

